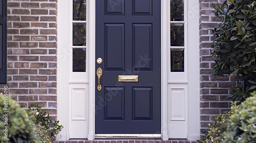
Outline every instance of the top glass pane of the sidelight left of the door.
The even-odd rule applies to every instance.
[[[86,20],[86,0],[73,0],[73,20]]]

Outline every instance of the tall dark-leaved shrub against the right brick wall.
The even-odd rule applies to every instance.
[[[221,6],[212,4],[216,17],[222,21],[213,30],[216,39],[211,45],[212,56],[217,57],[214,75],[236,76],[237,86],[229,97],[243,102],[256,89],[256,2],[228,1]]]

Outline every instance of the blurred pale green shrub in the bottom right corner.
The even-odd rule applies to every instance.
[[[233,104],[223,142],[256,142],[256,91],[241,105]]]

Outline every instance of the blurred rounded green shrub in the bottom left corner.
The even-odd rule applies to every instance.
[[[29,113],[10,96],[0,94],[0,142],[41,142]]]

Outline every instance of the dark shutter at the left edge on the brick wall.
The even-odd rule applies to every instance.
[[[0,1],[0,83],[7,82],[7,1]]]

